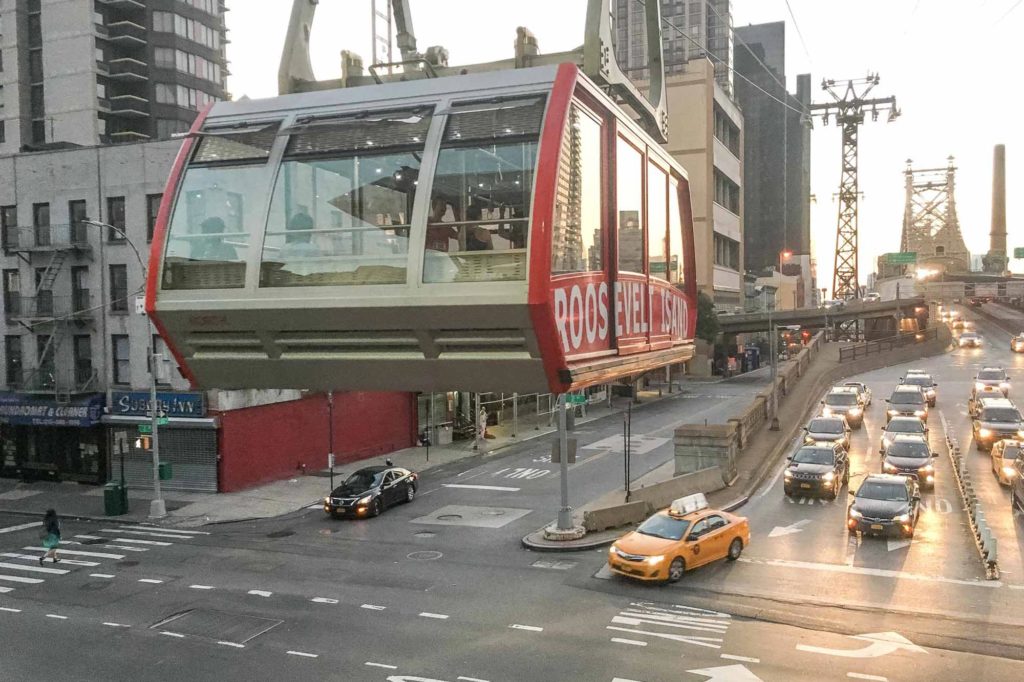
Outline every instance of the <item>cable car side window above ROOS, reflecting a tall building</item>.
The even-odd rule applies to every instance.
[[[601,270],[601,122],[573,103],[558,165],[551,271]]]

